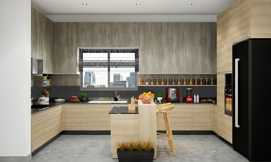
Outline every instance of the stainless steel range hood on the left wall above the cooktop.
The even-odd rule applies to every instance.
[[[31,76],[52,76],[52,74],[43,74],[43,60],[31,58]]]

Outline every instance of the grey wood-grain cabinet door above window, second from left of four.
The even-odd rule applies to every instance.
[[[108,22],[92,23],[92,47],[108,47]]]

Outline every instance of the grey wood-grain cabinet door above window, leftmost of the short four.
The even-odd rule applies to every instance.
[[[92,47],[92,22],[76,23],[77,47]]]

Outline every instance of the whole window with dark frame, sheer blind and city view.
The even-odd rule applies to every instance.
[[[79,49],[80,90],[137,90],[138,49]]]

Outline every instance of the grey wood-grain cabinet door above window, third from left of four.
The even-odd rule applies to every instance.
[[[108,47],[123,47],[123,22],[108,22]]]

